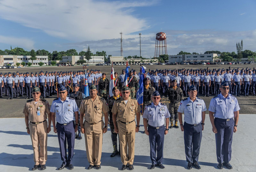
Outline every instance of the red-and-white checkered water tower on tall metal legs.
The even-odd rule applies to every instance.
[[[164,32],[159,32],[156,34],[156,47],[154,58],[157,58],[163,54],[167,54],[166,34]]]

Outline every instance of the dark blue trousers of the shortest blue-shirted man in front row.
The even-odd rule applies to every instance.
[[[164,158],[164,130],[162,126],[159,129],[148,126],[149,145],[150,145],[150,159],[152,164],[162,164]],[[157,153],[157,157],[156,157]]]

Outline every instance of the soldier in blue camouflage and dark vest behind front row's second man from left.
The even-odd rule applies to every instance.
[[[77,106],[80,107],[82,100],[85,98],[85,94],[79,91],[79,85],[77,83],[73,84],[73,90],[74,90],[73,92],[68,94],[68,97],[73,98],[76,101]],[[74,112],[74,121],[76,121],[75,112]],[[78,135],[77,133],[75,133],[75,138],[78,138],[79,140],[82,139],[79,111],[78,111]]]

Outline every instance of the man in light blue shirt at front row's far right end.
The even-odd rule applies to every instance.
[[[212,131],[215,133],[217,167],[222,169],[224,165],[231,169],[232,166],[229,161],[231,160],[232,138],[233,132],[237,131],[240,108],[236,97],[228,93],[229,85],[227,81],[221,82],[220,91],[221,93],[213,97],[210,102],[209,116]]]

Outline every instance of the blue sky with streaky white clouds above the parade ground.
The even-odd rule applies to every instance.
[[[17,1],[0,0],[0,49],[50,52],[76,49],[153,57],[155,36],[167,35],[169,55],[180,51],[256,51],[256,1]]]

